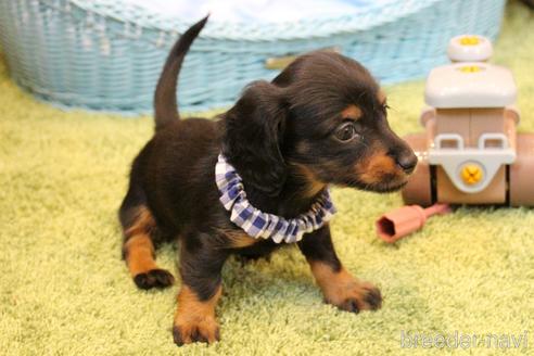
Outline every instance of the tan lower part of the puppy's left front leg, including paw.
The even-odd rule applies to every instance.
[[[188,285],[181,287],[173,330],[177,344],[196,341],[213,343],[219,340],[215,307],[221,293],[223,287],[219,285],[214,296],[207,301],[200,301]]]

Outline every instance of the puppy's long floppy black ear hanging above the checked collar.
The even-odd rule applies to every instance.
[[[281,89],[255,81],[225,117],[223,153],[246,187],[278,195],[285,182],[285,163],[280,152],[287,109]]]

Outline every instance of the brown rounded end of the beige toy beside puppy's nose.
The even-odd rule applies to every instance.
[[[415,134],[404,138],[416,153],[419,162],[416,170],[403,189],[403,200],[406,204],[418,204],[421,206],[432,205],[432,192],[430,181],[430,166],[427,158],[427,135]]]

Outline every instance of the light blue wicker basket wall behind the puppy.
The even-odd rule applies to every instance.
[[[212,22],[186,59],[180,107],[227,106],[247,82],[277,75],[266,65],[269,59],[320,48],[338,48],[382,82],[422,77],[447,61],[450,37],[495,38],[504,5],[505,0],[392,0],[336,18]],[[0,0],[0,41],[13,78],[43,100],[150,112],[163,61],[195,20],[163,20],[124,0]]]

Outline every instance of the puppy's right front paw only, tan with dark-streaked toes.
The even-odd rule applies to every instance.
[[[377,310],[382,306],[382,294],[371,283],[355,281],[327,297],[327,303],[352,313]]]

